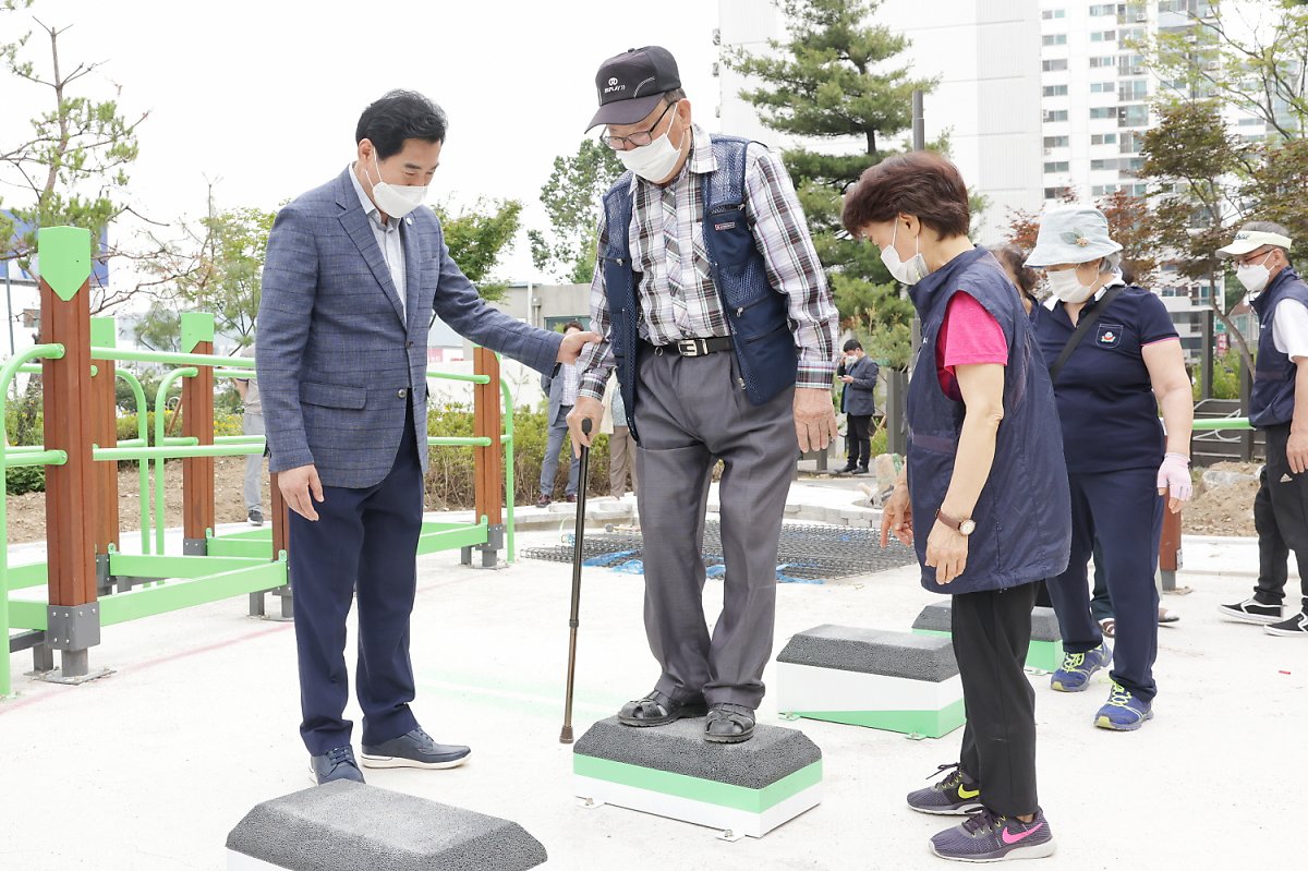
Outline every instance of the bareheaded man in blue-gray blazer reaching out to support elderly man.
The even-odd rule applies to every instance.
[[[290,578],[314,782],[362,782],[351,747],[345,617],[358,600],[356,692],[364,765],[453,768],[409,710],[409,613],[426,468],[426,337],[434,314],[538,369],[594,333],[560,336],[483,302],[419,208],[446,119],[413,92],[364,110],[356,157],[281,209],[268,235],[256,365],[269,471],[292,509]]]

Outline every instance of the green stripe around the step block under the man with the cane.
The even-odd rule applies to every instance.
[[[761,790],[751,790],[747,786],[734,786],[731,783],[718,783],[702,777],[661,772],[653,768],[629,765],[628,762],[615,762],[608,759],[596,759],[583,753],[573,753],[573,773],[582,777],[593,777],[596,781],[608,781],[651,793],[704,802],[705,804],[729,807],[735,811],[763,813],[793,795],[821,783],[821,760],[806,765],[794,774],[787,774]]]

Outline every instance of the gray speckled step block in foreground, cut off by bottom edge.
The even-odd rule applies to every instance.
[[[292,871],[523,871],[547,858],[517,823],[351,781],[256,804],[228,849]]]

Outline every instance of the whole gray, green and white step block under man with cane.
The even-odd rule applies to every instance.
[[[821,751],[794,728],[755,726],[740,744],[704,740],[704,719],[658,728],[602,719],[573,751],[586,807],[617,807],[761,838],[821,802]]]

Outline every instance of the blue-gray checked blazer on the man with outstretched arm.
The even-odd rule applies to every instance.
[[[327,487],[390,472],[408,403],[426,470],[426,336],[433,310],[472,341],[548,371],[562,336],[488,306],[420,208],[403,218],[404,306],[347,167],[277,213],[268,234],[255,365],[271,459],[313,463]],[[394,218],[392,218],[394,220]]]

